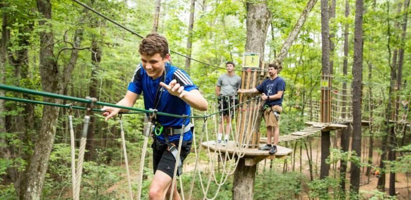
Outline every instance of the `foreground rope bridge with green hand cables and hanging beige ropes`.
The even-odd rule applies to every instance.
[[[110,104],[110,103],[105,103],[105,102],[99,102],[94,98],[76,98],[76,97],[70,97],[70,96],[65,96],[65,95],[59,95],[59,94],[53,94],[53,93],[46,93],[46,92],[41,92],[41,91],[35,91],[35,90],[29,90],[29,89],[24,89],[24,88],[18,88],[18,87],[12,87],[9,85],[4,85],[0,84],[0,89],[2,90],[8,90],[8,91],[14,91],[14,92],[19,92],[19,93],[25,93],[25,94],[32,94],[32,95],[38,95],[38,96],[44,96],[44,97],[52,97],[52,98],[59,98],[59,99],[65,99],[73,102],[80,102],[80,103],[86,103],[88,106],[87,107],[80,107],[80,106],[73,106],[71,104],[56,104],[56,103],[49,103],[49,102],[42,102],[42,101],[34,101],[34,100],[27,100],[27,99],[19,99],[19,98],[13,98],[13,97],[0,97],[0,99],[4,100],[10,100],[10,101],[17,101],[17,102],[24,102],[24,103],[33,103],[33,104],[40,104],[40,105],[48,105],[48,106],[58,106],[58,107],[63,107],[68,109],[68,119],[69,119],[69,130],[70,130],[70,144],[71,144],[71,174],[72,174],[72,192],[73,192],[73,199],[78,200],[80,198],[80,189],[81,189],[81,176],[82,176],[82,170],[83,170],[83,161],[84,161],[84,153],[85,153],[85,147],[86,147],[86,142],[87,142],[87,129],[88,129],[88,124],[90,121],[90,114],[92,111],[94,112],[101,112],[102,110],[94,108],[95,105],[106,105],[106,106],[111,106],[111,107],[117,107],[117,108],[122,108],[122,109],[128,109],[132,110],[129,113],[149,113],[149,116],[152,117],[154,115],[164,115],[164,116],[170,116],[170,117],[176,117],[176,118],[185,118],[185,119],[191,119],[194,123],[194,119],[203,119],[202,123],[202,128],[201,128],[201,133],[199,134],[199,141],[197,142],[197,136],[198,134],[193,134],[193,144],[194,144],[194,152],[195,152],[195,167],[194,167],[194,173],[192,175],[192,180],[191,180],[191,185],[189,189],[189,197],[188,199],[191,199],[192,192],[193,192],[193,187],[194,187],[194,181],[196,178],[199,179],[201,189],[204,195],[204,199],[215,199],[219,193],[219,190],[221,189],[221,186],[228,180],[228,176],[233,175],[236,167],[238,165],[239,159],[243,157],[246,153],[247,145],[248,142],[250,141],[251,137],[242,137],[240,142],[238,135],[235,134],[237,133],[237,128],[236,126],[230,126],[231,127],[231,136],[230,138],[234,138],[234,141],[230,141],[230,146],[225,146],[222,147],[218,143],[216,144],[217,147],[219,148],[206,148],[207,149],[207,154],[208,154],[208,166],[210,167],[210,172],[208,177],[203,177],[203,174],[200,173],[200,169],[198,167],[198,161],[199,161],[199,154],[201,151],[201,144],[203,143],[204,136],[207,141],[214,140],[214,138],[217,138],[217,127],[218,127],[218,115],[222,115],[222,111],[225,111],[227,109],[232,109],[233,113],[230,112],[229,115],[231,116],[232,119],[234,119],[233,124],[238,124],[236,122],[236,110],[238,109],[239,106],[243,106],[245,108],[248,108],[250,111],[250,115],[252,116],[252,119],[245,127],[245,129],[254,129],[255,127],[255,122],[256,122],[256,117],[259,115],[259,109],[255,109],[255,103],[258,102],[260,103],[260,97],[254,97],[250,98],[247,101],[244,101],[242,103],[239,103],[238,105],[229,105],[228,108],[223,109],[223,110],[217,110],[217,99],[213,98],[211,99],[212,103],[209,103],[211,106],[211,109],[213,110],[213,113],[210,115],[207,115],[206,112],[204,112],[204,116],[178,116],[178,115],[172,115],[169,113],[163,113],[155,110],[144,110],[144,109],[139,109],[139,108],[133,108],[133,107],[125,107],[125,106],[119,106],[115,104]],[[81,142],[80,142],[80,147],[79,147],[79,157],[78,157],[78,163],[77,166],[75,166],[75,146],[74,146],[74,130],[73,130],[73,125],[72,125],[72,110],[73,109],[79,109],[79,110],[85,110],[86,115],[84,118],[84,126],[83,126],[83,134],[81,137]],[[132,191],[132,183],[131,183],[131,178],[130,178],[130,170],[129,170],[129,165],[128,165],[128,159],[127,159],[127,152],[126,152],[126,146],[125,146],[125,138],[124,138],[124,129],[123,129],[123,124],[122,124],[122,115],[119,115],[119,125],[120,125],[120,135],[121,135],[121,141],[122,141],[122,149],[123,149],[123,154],[124,154],[124,162],[125,162],[125,169],[126,169],[126,174],[127,174],[127,182],[129,185],[129,193],[130,193],[130,199],[141,199],[141,190],[142,190],[142,176],[143,176],[143,168],[144,168],[144,161],[145,161],[145,155],[147,151],[147,145],[148,145],[148,140],[150,138],[150,130],[151,128],[151,123],[148,123],[148,128],[147,132],[144,134],[144,142],[143,142],[143,147],[142,147],[142,153],[141,153],[141,159],[140,159],[140,167],[139,167],[139,177],[138,177],[138,183],[137,183],[137,194],[133,195]],[[214,126],[214,130],[212,132],[214,133],[209,133],[208,131],[208,125],[210,121],[208,119],[212,119],[212,125]],[[223,122],[223,126],[224,122]],[[251,126],[251,127],[248,127]],[[233,128],[234,127],[234,128]],[[184,130],[184,127],[183,129]],[[224,133],[225,134],[225,133]],[[181,134],[183,135],[183,134]],[[178,154],[177,154],[177,161],[176,161],[176,166],[174,167],[174,176],[173,176],[173,181],[172,181],[172,188],[175,185],[176,182],[176,172],[177,172],[177,167],[178,167],[178,159],[179,159],[179,154],[181,153],[181,144],[182,144],[183,137],[180,137],[179,139],[179,145],[178,145]],[[197,144],[200,144],[197,146]],[[227,152],[228,148],[234,147],[234,150],[231,150],[230,154],[224,153]],[[225,148],[225,149],[223,149]],[[217,178],[216,176],[216,163],[222,160],[222,174],[220,178]],[[178,177],[179,178],[179,177]],[[203,180],[207,180],[207,184],[204,184]],[[182,185],[182,180],[179,178],[180,185]],[[215,194],[208,196],[209,189],[212,183],[215,183],[218,188]],[[173,192],[173,190],[171,190]],[[181,187],[181,194],[183,199],[184,198],[184,190],[183,187]],[[170,198],[172,197],[172,193],[170,195]]]

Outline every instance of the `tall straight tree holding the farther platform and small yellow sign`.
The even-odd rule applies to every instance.
[[[328,12],[328,0],[321,0],[321,42],[322,42],[322,74],[323,77],[329,78],[329,12]],[[327,101],[329,92],[326,90],[321,90],[321,122],[328,122],[329,119],[329,102]],[[330,142],[330,131],[321,131],[321,168],[320,168],[320,179],[324,179],[329,174],[330,165],[325,162],[326,158],[330,155],[329,148],[331,146]]]

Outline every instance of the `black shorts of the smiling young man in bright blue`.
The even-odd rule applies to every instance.
[[[175,148],[178,148],[178,141],[172,141],[175,145]],[[187,158],[187,155],[190,153],[192,141],[183,141],[181,153],[180,153],[180,160],[183,164],[184,159]],[[153,173],[156,174],[157,170],[166,173],[168,176],[173,178],[174,174],[174,167],[175,167],[175,158],[171,152],[167,149],[167,144],[165,142],[161,142],[156,140],[151,145],[152,148],[152,163],[153,163]],[[178,150],[178,149],[177,149]],[[177,170],[177,176],[178,174]]]

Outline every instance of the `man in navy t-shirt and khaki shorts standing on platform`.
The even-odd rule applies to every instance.
[[[270,154],[275,154],[277,152],[282,98],[284,97],[284,91],[286,90],[286,82],[277,74],[279,67],[280,64],[278,62],[268,65],[270,78],[264,80],[263,83],[253,89],[238,90],[239,93],[263,93],[261,99],[265,101],[264,120],[267,127],[267,145],[261,147],[260,150],[267,150]],[[273,146],[271,146],[271,136],[274,136]]]

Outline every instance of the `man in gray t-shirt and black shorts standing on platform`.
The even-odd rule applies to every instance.
[[[216,84],[216,95],[219,96],[218,108],[219,110],[223,110],[220,116],[220,125],[218,128],[217,142],[220,143],[222,140],[224,127],[223,123],[225,121],[225,137],[223,145],[226,145],[229,138],[234,108],[228,110],[224,109],[233,107],[238,103],[237,91],[241,87],[241,77],[234,73],[234,67],[235,65],[233,62],[227,62],[225,64],[227,73],[222,74],[220,77],[218,77]]]

